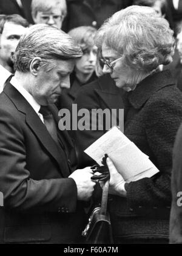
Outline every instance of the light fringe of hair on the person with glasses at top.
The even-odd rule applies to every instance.
[[[32,16],[36,17],[38,12],[49,12],[52,8],[60,9],[62,15],[67,15],[66,0],[32,0],[31,10]]]

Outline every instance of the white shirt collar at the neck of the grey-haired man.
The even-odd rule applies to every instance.
[[[29,102],[29,104],[32,106],[32,108],[35,110],[35,112],[39,115],[39,110],[41,108],[41,105],[39,105],[36,100],[33,98],[33,96],[21,85],[19,85],[18,80],[16,80],[15,77],[12,77],[12,80],[10,83],[21,93],[21,95]]]

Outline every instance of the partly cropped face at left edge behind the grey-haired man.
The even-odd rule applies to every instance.
[[[2,66],[6,67],[8,65],[13,69],[11,55],[15,52],[19,40],[26,29],[27,28],[14,24],[13,22],[5,22],[4,29],[0,35],[0,60]]]

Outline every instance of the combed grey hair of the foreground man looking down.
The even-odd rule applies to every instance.
[[[48,71],[55,60],[71,60],[82,57],[83,52],[71,36],[56,27],[38,24],[22,35],[13,60],[20,72],[29,72],[33,58],[41,58],[41,66]]]

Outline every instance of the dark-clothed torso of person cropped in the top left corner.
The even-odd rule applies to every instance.
[[[34,24],[30,9],[31,2],[32,0],[1,0],[0,14],[19,14],[23,18],[27,19],[30,24]]]

